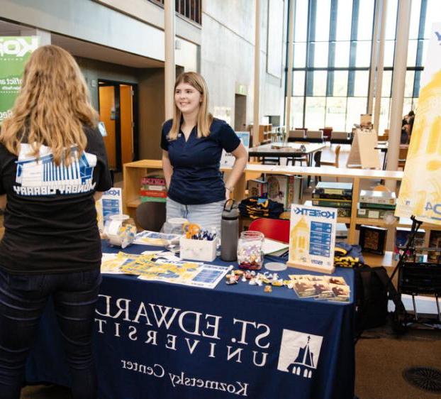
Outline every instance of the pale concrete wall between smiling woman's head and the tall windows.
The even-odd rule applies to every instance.
[[[260,38],[260,115],[281,115],[284,110],[284,77],[277,79],[266,72],[267,15],[269,0],[261,0]],[[284,2],[284,26],[286,26]],[[285,29],[284,29],[285,31]],[[282,45],[286,38],[281,38]],[[210,90],[210,110],[223,106],[231,109],[234,125],[235,87],[247,89],[247,123],[253,118],[255,1],[203,1],[201,73]],[[282,55],[284,70],[285,55]],[[282,74],[283,75],[283,74]]]

